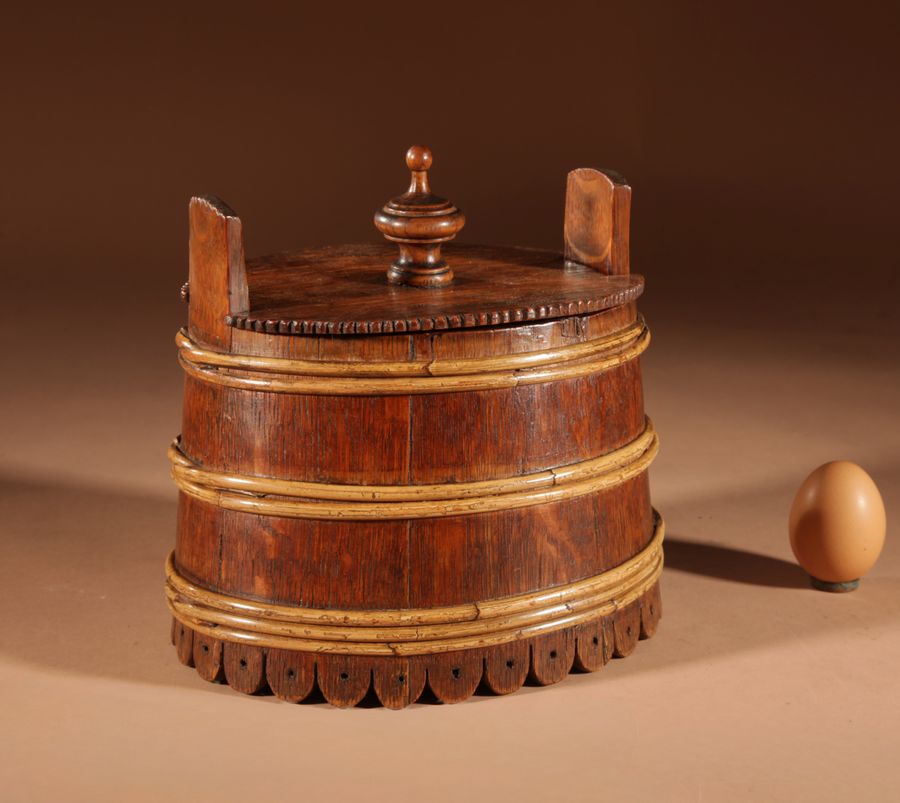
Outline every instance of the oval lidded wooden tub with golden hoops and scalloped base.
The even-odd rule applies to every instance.
[[[456,702],[555,683],[653,634],[657,437],[623,188],[570,174],[565,255],[458,245],[444,263],[448,204],[428,237],[392,230],[432,249],[393,265],[388,244],[245,264],[234,214],[191,202],[166,566],[182,663],[247,693],[399,708],[426,685]],[[447,264],[445,284],[404,280]]]

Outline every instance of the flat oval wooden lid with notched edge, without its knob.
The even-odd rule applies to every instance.
[[[452,244],[454,281],[388,284],[388,245],[306,248],[247,262],[250,308],[232,326],[272,334],[387,334],[498,326],[597,312],[634,301],[643,277],[565,266],[559,253]],[[191,291],[193,293],[193,290]]]

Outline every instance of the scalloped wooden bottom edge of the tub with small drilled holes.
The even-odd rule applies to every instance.
[[[630,655],[650,638],[662,615],[659,583],[615,613],[544,636],[495,647],[412,657],[369,657],[297,652],[238,644],[196,633],[172,620],[178,659],[204,680],[228,683],[245,694],[271,690],[297,703],[316,689],[346,708],[375,698],[386,708],[414,703],[426,685],[444,703],[458,703],[479,687],[509,694],[526,681],[558,683],[570,671],[595,672],[610,658]]]

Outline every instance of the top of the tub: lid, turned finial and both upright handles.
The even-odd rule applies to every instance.
[[[231,327],[361,335],[497,326],[634,301],[631,188],[614,173],[569,173],[562,253],[450,243],[465,217],[435,195],[431,151],[407,151],[409,188],[375,213],[386,243],[244,260],[241,222],[214,198],[191,202],[190,329],[227,346]]]

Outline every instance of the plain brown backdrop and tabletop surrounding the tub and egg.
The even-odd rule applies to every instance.
[[[900,556],[827,597],[784,533],[828,459],[900,502],[896,31],[887,3],[5,10],[4,799],[896,799]],[[569,169],[631,181],[666,618],[503,700],[243,699],[165,643],[187,201],[251,255],[375,241],[414,142],[468,242],[558,247]]]

